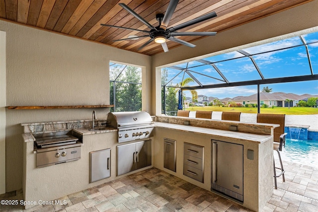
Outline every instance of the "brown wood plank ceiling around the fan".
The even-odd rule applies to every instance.
[[[217,17],[186,27],[181,31],[222,32],[309,1],[312,0],[179,0],[168,27],[215,11]],[[118,3],[127,4],[156,27],[159,25],[156,14],[165,12],[169,0],[0,0],[0,18],[146,55],[163,52],[161,45],[155,42],[138,50],[150,39],[149,37],[113,42],[113,40],[127,38],[129,35],[146,34],[101,26],[101,23],[149,30]],[[202,36],[178,38],[191,43]],[[167,41],[167,46],[172,49],[180,44]],[[190,47],[189,50],[191,50]]]

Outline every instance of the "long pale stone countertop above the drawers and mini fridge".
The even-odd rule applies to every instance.
[[[155,127],[165,128],[170,130],[173,129],[173,130],[178,130],[183,132],[192,132],[197,134],[211,135],[211,136],[216,136],[220,138],[233,138],[233,139],[257,142],[257,143],[263,143],[272,138],[272,136],[270,135],[257,135],[257,134],[250,134],[250,133],[209,129],[209,128],[202,128],[202,127],[188,126],[188,125],[162,123],[162,122],[155,122]]]

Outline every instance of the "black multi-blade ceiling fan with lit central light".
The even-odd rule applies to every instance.
[[[197,18],[194,18],[192,20],[181,23],[179,25],[167,28],[169,21],[172,17],[172,14],[173,14],[178,2],[179,2],[179,0],[170,0],[165,14],[163,15],[163,14],[159,13],[156,15],[156,19],[159,21],[159,26],[157,26],[157,27],[154,27],[153,25],[148,23],[144,18],[142,18],[140,15],[138,15],[134,10],[129,8],[126,4],[119,3],[119,5],[121,7],[126,9],[129,13],[131,13],[133,16],[135,16],[138,20],[140,20],[146,26],[148,26],[150,31],[132,29],[132,28],[127,28],[127,27],[114,26],[114,25],[108,25],[108,24],[102,24],[102,23],[100,25],[148,33],[148,35],[129,36],[128,38],[113,40],[113,41],[123,41],[123,40],[134,40],[134,39],[138,39],[138,38],[150,37],[150,40],[147,41],[145,44],[143,44],[141,47],[139,47],[138,50],[143,49],[145,46],[150,44],[152,41],[155,41],[156,43],[161,44],[164,52],[168,52],[169,50],[168,50],[168,47],[166,44],[166,40],[174,41],[174,42],[177,42],[177,43],[180,43],[180,44],[183,44],[185,46],[193,48],[193,47],[195,47],[194,44],[183,41],[183,40],[178,39],[174,36],[211,36],[211,35],[216,35],[216,32],[177,32],[177,30],[179,30],[179,29],[183,29],[183,28],[191,26],[193,24],[200,23],[202,21],[216,17],[217,16],[216,12],[210,12],[210,13],[207,13],[207,14],[202,15],[200,17],[197,17]]]

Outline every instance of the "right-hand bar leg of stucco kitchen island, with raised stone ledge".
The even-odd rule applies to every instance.
[[[155,142],[153,143],[153,158],[156,158],[153,163],[154,167],[209,191],[211,182],[213,182],[213,141],[240,144],[243,149],[241,156],[243,160],[243,201],[239,203],[252,211],[262,211],[273,193],[273,136],[271,134],[278,125],[171,116],[157,116],[156,121]],[[237,132],[229,131],[230,126],[231,129],[237,129]],[[175,171],[164,167],[166,148],[171,148],[171,145],[165,145],[167,141],[175,141]],[[195,171],[191,171],[191,169],[189,171],[185,168],[188,167],[186,162],[201,164],[200,159],[198,159],[199,162],[195,162],[197,159],[195,157],[186,159],[189,158],[186,151],[193,152],[193,150],[187,149],[191,145],[197,153],[200,152],[200,147],[203,149],[202,169],[194,168],[192,170]],[[232,156],[230,151],[225,152],[225,155],[229,158]],[[170,161],[173,162],[171,159]],[[235,162],[237,161],[233,161],[233,163]],[[231,164],[231,162],[229,163]],[[193,165],[193,167],[195,166]],[[195,176],[200,176],[195,173],[200,171],[203,172],[203,182],[199,182],[201,178],[197,180]]]

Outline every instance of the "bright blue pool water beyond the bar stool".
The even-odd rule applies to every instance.
[[[283,160],[318,167],[318,141],[286,139]]]

